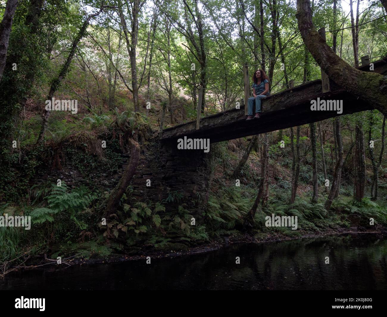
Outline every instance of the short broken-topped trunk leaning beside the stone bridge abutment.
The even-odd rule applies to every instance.
[[[118,182],[118,185],[110,193],[108,199],[106,199],[106,212],[105,218],[108,218],[110,214],[113,214],[116,211],[118,204],[120,203],[122,195],[125,193],[130,180],[137,170],[137,166],[140,161],[140,146],[133,139],[129,139],[130,143],[130,162],[123,172],[123,175]]]

